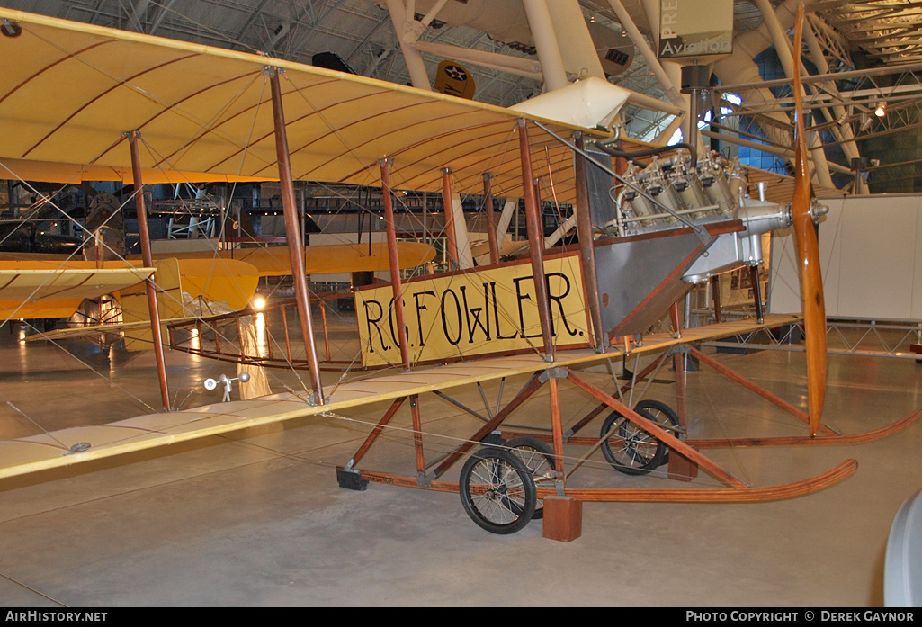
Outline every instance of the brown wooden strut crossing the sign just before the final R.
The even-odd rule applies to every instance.
[[[525,195],[528,251],[531,258],[532,275],[535,278],[535,304],[538,306],[545,360],[553,361],[554,344],[550,331],[550,301],[548,300],[548,283],[544,276],[544,230],[541,227],[538,195],[535,186],[532,185],[534,175],[531,169],[531,149],[528,145],[528,124],[525,119],[520,119],[516,126],[519,136],[519,158],[522,161],[522,190]]]

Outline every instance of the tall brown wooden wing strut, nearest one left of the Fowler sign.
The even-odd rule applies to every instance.
[[[298,317],[301,320],[301,334],[311,371],[311,383],[318,405],[324,405],[324,384],[320,378],[320,364],[317,361],[317,347],[313,341],[311,300],[307,290],[307,276],[304,273],[304,246],[301,243],[301,220],[298,218],[298,204],[294,196],[294,180],[291,176],[291,158],[288,133],[285,130],[285,112],[282,109],[282,89],[278,81],[278,68],[271,68],[269,85],[272,91],[272,116],[276,133],[276,154],[278,156],[278,183],[282,195],[282,213],[285,216],[285,236],[291,262],[291,279],[294,282],[295,299],[298,302]]]

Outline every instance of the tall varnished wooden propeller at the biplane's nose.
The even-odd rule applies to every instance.
[[[794,115],[795,161],[794,198],[791,217],[798,246],[800,266],[800,298],[804,313],[804,335],[807,348],[807,394],[810,414],[810,435],[816,435],[822,420],[826,399],[826,306],[822,298],[820,251],[816,229],[810,215],[812,190],[810,165],[807,160],[807,140],[804,136],[802,88],[800,82],[800,49],[803,35],[804,6],[798,6],[794,30]]]

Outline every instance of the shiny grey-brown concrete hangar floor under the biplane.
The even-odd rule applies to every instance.
[[[106,363],[87,342],[66,348],[27,346],[0,329],[0,437],[159,407],[149,353],[113,350]],[[802,354],[717,359],[803,402]],[[168,368],[180,407],[214,402],[220,391],[207,392],[201,381],[233,373],[231,364],[178,352],[168,354]],[[826,422],[842,432],[881,427],[922,407],[922,364],[915,361],[831,356],[830,374]],[[612,389],[609,374],[587,376]],[[650,394],[673,398],[673,377],[660,371]],[[507,383],[506,398],[516,385]],[[697,435],[805,432],[713,371],[690,373],[688,389]],[[492,403],[498,393],[495,386],[486,390]],[[429,396],[421,402],[427,458],[450,448],[444,436],[464,436],[477,424]],[[482,407],[477,390],[455,397]],[[564,420],[573,420],[593,404],[564,386],[563,407]],[[349,460],[371,429],[367,422],[384,409],[0,481],[0,604],[877,606],[892,517],[922,488],[922,423],[916,422],[868,444],[711,452],[760,486],[857,459],[854,476],[810,496],[751,504],[585,503],[583,534],[573,542],[542,538],[538,521],[496,536],[473,524],[455,494],[337,486],[334,468]],[[511,420],[548,415],[547,396],[539,395]],[[398,427],[408,425],[406,410],[398,418]],[[413,474],[412,465],[411,437],[394,430],[362,466]],[[656,474],[621,475],[600,455],[577,478],[624,487],[675,483]],[[702,473],[695,484],[716,482]]]

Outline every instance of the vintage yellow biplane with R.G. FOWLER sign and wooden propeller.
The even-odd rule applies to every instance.
[[[384,416],[337,469],[341,486],[362,490],[376,481],[455,491],[472,519],[491,532],[511,533],[543,516],[545,535],[572,539],[579,535],[580,506],[585,501],[782,499],[822,489],[857,467],[848,460],[816,477],[751,487],[700,449],[860,442],[895,432],[919,417],[916,412],[891,427],[852,435],[837,434],[822,424],[825,323],[813,230],[822,210],[811,201],[799,114],[796,191],[790,203],[778,204],[751,198],[745,188],[733,189],[732,172],[713,155],[699,160],[673,150],[660,159],[652,154],[658,152],[654,147],[624,140],[622,150],[644,148],[653,160],[642,171],[616,172],[621,167],[617,160],[612,166],[605,144],[612,139],[608,129],[595,123],[561,122],[548,113],[560,106],[568,113],[581,106],[585,109],[585,90],[591,89],[593,106],[607,104],[586,112],[584,119],[610,121],[626,94],[593,79],[550,94],[556,104],[538,97],[510,110],[260,54],[11,10],[0,14],[0,58],[5,66],[0,79],[0,118],[5,124],[0,163],[6,171],[28,169],[31,178],[62,170],[132,172],[142,222],[146,172],[198,180],[207,175],[278,177],[288,227],[287,253],[290,267],[295,268],[296,331],[304,344],[303,365],[310,373],[302,392],[0,442],[0,478],[305,416],[335,420],[350,409],[384,402],[390,403]],[[50,90],[69,97],[54,101],[53,106],[37,106],[47,102],[41,97]],[[664,167],[667,158],[668,168]],[[703,176],[704,170],[709,178]],[[560,203],[575,207],[577,244],[544,250],[538,177],[553,182]],[[383,193],[391,281],[356,291],[361,369],[343,373],[335,382],[324,382],[321,376],[307,282],[304,271],[298,270],[304,267],[304,249],[294,180],[380,186]],[[677,185],[680,180],[683,184]],[[609,195],[616,181],[617,202]],[[663,195],[656,195],[652,183]],[[398,188],[443,195],[453,266],[449,272],[401,279],[393,207]],[[502,260],[493,233],[489,264],[463,262],[467,257],[457,250],[461,238],[453,232],[459,220],[447,215],[455,210],[448,199],[458,190],[482,190],[489,199],[484,207],[490,223],[492,195],[522,198],[527,255]],[[665,201],[673,194],[680,206]],[[695,281],[727,268],[757,265],[761,234],[790,227],[797,233],[802,266],[809,379],[806,411],[732,373],[693,346],[708,338],[791,325],[800,316],[760,311],[755,318],[738,322],[682,328],[676,306]],[[153,267],[148,252],[144,266]],[[147,283],[152,305],[156,279],[157,274]],[[156,309],[151,306],[152,321]],[[672,329],[651,333],[670,312]],[[220,324],[212,319],[195,322],[212,329]],[[156,322],[151,325],[156,327]],[[680,365],[686,354],[785,408],[805,422],[805,433],[758,441],[689,439]],[[583,373],[588,366],[625,355],[656,356],[635,373],[632,383],[673,358],[678,365],[677,411],[643,401],[629,407],[624,390],[605,391]],[[159,365],[162,369],[162,360]],[[525,377],[526,384],[512,399],[495,410],[488,408],[482,426],[461,444],[434,461],[426,459],[420,395],[447,396],[462,387],[514,377]],[[165,399],[168,383],[161,370]],[[561,410],[562,384],[573,385],[598,403],[569,428]],[[539,432],[501,431],[504,420],[544,385],[550,393],[550,425]],[[413,434],[412,470],[399,474],[363,469],[366,453],[392,428],[404,405]],[[597,437],[578,434],[603,416]],[[564,456],[565,444],[588,447],[569,469],[564,463],[569,459]],[[627,474],[654,470],[667,463],[668,452],[670,476],[693,479],[700,467],[725,487],[698,488],[688,483],[668,489],[580,487],[571,473],[599,449],[611,467]],[[449,475],[466,457],[456,478]]]

